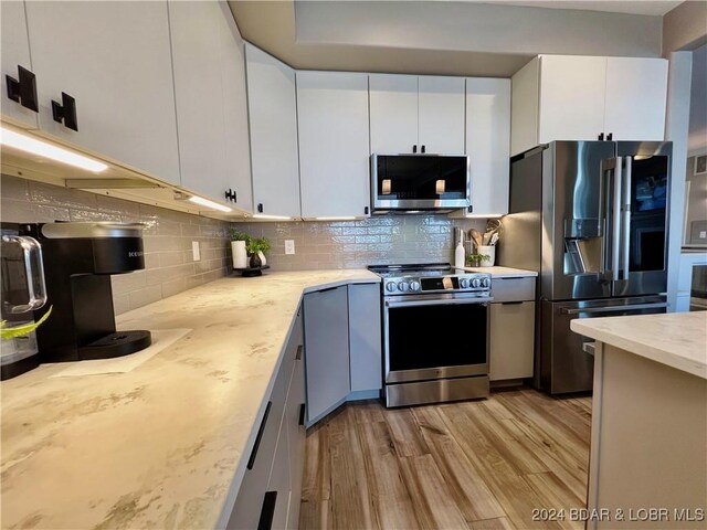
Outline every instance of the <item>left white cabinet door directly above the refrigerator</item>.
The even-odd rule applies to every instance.
[[[604,130],[606,59],[544,55],[540,64],[540,119],[536,145],[598,139]]]

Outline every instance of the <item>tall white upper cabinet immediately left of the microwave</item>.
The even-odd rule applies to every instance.
[[[369,214],[368,75],[297,72],[302,216]]]

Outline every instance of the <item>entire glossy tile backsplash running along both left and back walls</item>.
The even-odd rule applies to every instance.
[[[228,223],[161,208],[0,177],[0,220],[14,223],[122,221],[147,225],[144,271],[115,275],[116,314],[145,306],[229,274],[230,230],[266,236],[273,271],[358,268],[377,263],[451,262],[455,226],[483,230],[484,220],[446,215],[384,215],[362,221]],[[295,254],[285,254],[294,240]],[[192,259],[198,241],[201,261]]]

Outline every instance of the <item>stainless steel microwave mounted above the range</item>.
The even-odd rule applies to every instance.
[[[371,155],[373,213],[443,213],[469,204],[469,157]]]

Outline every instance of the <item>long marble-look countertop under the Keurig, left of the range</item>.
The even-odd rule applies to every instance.
[[[2,528],[213,528],[303,293],[380,278],[368,271],[223,278],[118,317],[118,329],[190,328],[128,373],[0,384]]]

